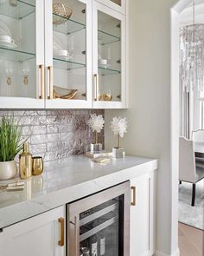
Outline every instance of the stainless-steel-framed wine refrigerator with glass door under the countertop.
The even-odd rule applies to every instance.
[[[67,204],[68,256],[130,256],[130,182]]]

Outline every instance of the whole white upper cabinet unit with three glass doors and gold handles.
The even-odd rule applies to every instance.
[[[0,108],[127,108],[127,1],[66,1],[0,1]]]

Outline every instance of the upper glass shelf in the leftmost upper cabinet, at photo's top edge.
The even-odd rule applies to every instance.
[[[10,1],[0,3],[0,14],[10,16],[15,19],[22,19],[25,16],[35,12],[35,1],[16,0],[16,6],[10,5]]]

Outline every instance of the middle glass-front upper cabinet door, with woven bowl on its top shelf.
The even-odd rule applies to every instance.
[[[92,107],[92,1],[45,1],[46,108]]]

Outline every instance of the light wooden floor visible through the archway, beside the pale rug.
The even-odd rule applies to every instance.
[[[204,255],[204,232],[192,226],[179,223],[179,249],[181,256]]]

